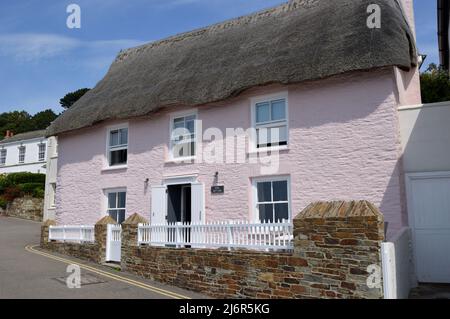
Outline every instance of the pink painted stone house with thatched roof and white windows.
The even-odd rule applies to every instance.
[[[296,0],[121,52],[49,128],[57,223],[292,219],[365,199],[399,230],[397,109],[420,103],[411,5]]]

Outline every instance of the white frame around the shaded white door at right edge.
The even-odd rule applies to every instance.
[[[412,233],[412,261],[413,261],[413,278],[414,284],[417,285],[419,282],[418,273],[417,273],[417,247],[416,247],[416,225],[415,225],[415,216],[414,216],[414,208],[413,208],[413,199],[412,199],[412,184],[415,180],[421,179],[430,179],[430,178],[450,178],[450,171],[430,171],[430,172],[415,172],[415,173],[405,173],[405,188],[406,188],[406,205],[408,212],[408,226],[411,229]]]

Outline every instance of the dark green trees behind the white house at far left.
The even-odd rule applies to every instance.
[[[39,112],[34,116],[25,111],[0,113],[0,140],[4,138],[7,130],[14,134],[44,130],[57,117],[58,115],[50,109]]]

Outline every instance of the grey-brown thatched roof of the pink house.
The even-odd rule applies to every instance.
[[[370,4],[382,27],[369,29]],[[49,128],[197,106],[273,83],[417,63],[410,28],[393,0],[292,0],[278,7],[121,52],[105,78]]]

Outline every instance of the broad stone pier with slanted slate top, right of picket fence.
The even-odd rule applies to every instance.
[[[305,291],[302,296],[382,298],[380,251],[383,240],[383,215],[367,201],[309,205],[294,219],[291,264],[301,267],[308,275],[305,278],[309,277],[299,280]],[[324,260],[329,265],[327,268],[323,268]],[[378,272],[369,273],[369,269],[377,268]],[[336,282],[334,285],[316,287],[315,284],[323,283],[330,275]]]

